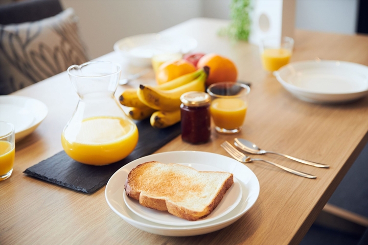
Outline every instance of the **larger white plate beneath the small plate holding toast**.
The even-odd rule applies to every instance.
[[[168,226],[151,222],[133,213],[124,202],[124,183],[131,169],[148,161],[162,163],[198,163],[233,173],[242,187],[242,198],[228,214],[211,222],[192,226]],[[105,197],[110,208],[130,225],[144,231],[165,236],[194,236],[220,230],[236,222],[253,206],[259,195],[256,175],[244,164],[223,155],[207,152],[165,152],[142,157],[120,168],[106,185]]]

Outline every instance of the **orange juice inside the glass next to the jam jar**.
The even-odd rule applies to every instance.
[[[215,99],[211,103],[211,115],[215,125],[223,129],[236,129],[243,125],[247,105],[239,98]]]

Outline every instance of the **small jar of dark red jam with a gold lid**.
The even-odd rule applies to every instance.
[[[200,144],[211,136],[211,97],[204,92],[187,92],[180,96],[181,138],[183,141]]]

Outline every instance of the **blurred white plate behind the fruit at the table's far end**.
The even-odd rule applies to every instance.
[[[194,38],[156,33],[126,37],[113,46],[114,51],[137,66],[150,66],[151,58],[156,54],[187,54],[196,47],[197,41]]]

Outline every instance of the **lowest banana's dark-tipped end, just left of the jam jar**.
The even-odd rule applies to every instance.
[[[151,115],[150,123],[153,128],[163,129],[180,121],[180,109],[175,111],[155,111]]]

